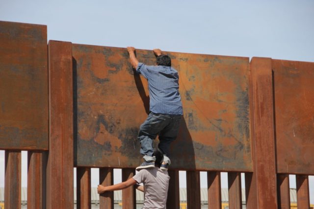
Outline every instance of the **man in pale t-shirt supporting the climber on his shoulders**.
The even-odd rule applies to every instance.
[[[155,149],[154,157],[156,158],[154,168],[142,169],[132,178],[116,185],[98,185],[97,192],[101,194],[107,191],[125,189],[137,184],[136,188],[144,192],[143,209],[165,209],[170,177],[168,171],[160,169],[159,162],[161,162],[163,158],[161,151]],[[143,183],[144,186],[138,185],[141,183]]]

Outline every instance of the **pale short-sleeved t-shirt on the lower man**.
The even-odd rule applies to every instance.
[[[169,175],[168,171],[158,167],[140,170],[133,179],[144,185],[143,209],[165,209],[167,202]]]

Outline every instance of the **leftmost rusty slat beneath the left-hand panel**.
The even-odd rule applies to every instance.
[[[4,205],[21,209],[21,151],[5,151]]]

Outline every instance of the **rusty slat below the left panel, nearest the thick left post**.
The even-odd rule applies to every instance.
[[[43,205],[43,153],[27,152],[27,209],[45,209]]]

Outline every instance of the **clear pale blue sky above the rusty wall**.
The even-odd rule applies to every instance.
[[[314,0],[0,0],[0,20],[77,44],[314,62]],[[3,175],[0,151],[0,187]],[[310,193],[314,204],[313,176]]]

